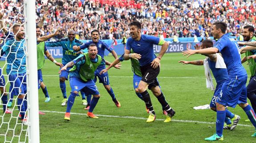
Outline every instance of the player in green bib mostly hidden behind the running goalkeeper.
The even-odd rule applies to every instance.
[[[134,52],[131,50],[131,53],[134,53]],[[120,58],[115,59],[114,62],[112,62],[110,64],[110,66],[108,66],[106,69],[104,69],[100,72],[100,75],[102,73],[106,73],[108,70],[110,70],[111,67],[117,65],[119,62],[124,61],[123,56],[124,56],[124,54]],[[154,54],[154,56],[157,57],[155,54]],[[131,61],[132,71],[134,73],[133,74],[134,90],[135,90],[136,95],[143,101],[142,95],[138,92],[138,84],[142,80],[142,73],[141,73],[141,70],[140,70],[139,62],[138,62],[137,59],[134,59],[134,58],[131,58],[130,61]],[[158,84],[159,84],[159,82],[158,82]],[[160,85],[159,85],[159,87],[160,87]],[[162,108],[163,108],[163,114],[167,115],[167,112],[165,111],[165,108],[164,107],[162,107]],[[149,113],[148,108],[146,108],[146,112]]]

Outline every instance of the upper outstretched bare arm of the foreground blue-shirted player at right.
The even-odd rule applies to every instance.
[[[193,54],[216,54],[219,52],[218,48],[211,47],[206,49],[199,49],[199,50],[185,50],[182,51],[183,56],[187,55],[187,57],[193,55]]]

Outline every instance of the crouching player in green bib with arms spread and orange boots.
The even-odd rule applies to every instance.
[[[94,72],[98,66],[103,64],[105,65],[105,60],[100,55],[98,55],[98,49],[95,44],[90,44],[88,49],[88,53],[81,54],[79,57],[63,66],[60,70],[61,72],[73,66],[73,68],[69,70],[69,83],[71,86],[71,93],[67,103],[67,110],[64,117],[65,120],[70,120],[70,110],[73,106],[75,97],[80,90],[83,90],[86,95],[93,95],[93,99],[90,102],[89,111],[87,112],[87,117],[98,118],[93,114],[93,109],[98,103],[100,93],[92,79],[94,78]],[[106,65],[110,65],[110,62],[106,61]]]

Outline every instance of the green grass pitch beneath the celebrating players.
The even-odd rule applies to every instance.
[[[183,57],[181,53],[165,54],[161,60],[161,70],[158,80],[163,93],[176,114],[170,123],[164,123],[161,105],[151,92],[150,97],[156,112],[153,123],[147,124],[148,114],[145,104],[133,89],[133,73],[130,61],[122,62],[122,69],[110,69],[110,85],[116,98],[121,103],[117,108],[103,85],[97,82],[101,98],[93,113],[99,119],[86,118],[87,111],[81,103],[81,97],[76,97],[71,110],[70,121],[64,121],[65,107],[61,107],[63,99],[59,87],[58,67],[48,59],[42,70],[44,83],[47,86],[51,101],[45,103],[45,96],[39,89],[39,109],[45,111],[40,115],[41,143],[201,143],[204,138],[215,133],[216,113],[210,109],[194,110],[193,107],[209,104],[213,92],[206,88],[203,66],[182,65],[179,60],[204,59],[202,55]],[[112,56],[105,57],[112,62]],[[57,59],[61,61],[61,59]],[[1,62],[3,63],[3,62]],[[2,64],[1,64],[2,65]],[[248,70],[246,63],[244,67]],[[250,76],[250,73],[249,73]],[[66,81],[67,94],[70,92],[69,81]],[[216,85],[216,84],[215,84]],[[234,131],[223,131],[224,142],[252,143],[251,135],[254,128],[250,122],[245,122],[246,114],[240,107],[229,108],[239,115],[240,126]],[[74,114],[72,114],[74,113]],[[2,113],[0,113],[2,115]],[[9,115],[5,116],[8,118]],[[145,119],[144,119],[145,118]],[[2,119],[0,118],[0,123]],[[1,130],[7,127],[2,127]],[[12,134],[8,134],[8,137]],[[0,143],[4,141],[0,136]]]

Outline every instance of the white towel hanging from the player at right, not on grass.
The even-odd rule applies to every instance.
[[[211,91],[214,91],[215,88],[211,78],[211,69],[208,63],[208,57],[206,57],[205,60],[203,61],[203,66],[204,66],[204,74],[206,77],[206,88],[211,89]]]

